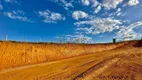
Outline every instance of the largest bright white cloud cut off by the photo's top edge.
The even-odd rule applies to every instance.
[[[123,0],[103,0],[102,5],[105,7],[105,9],[115,9],[119,4],[121,4]]]

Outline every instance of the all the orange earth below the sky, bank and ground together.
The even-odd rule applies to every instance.
[[[142,80],[142,41],[0,42],[0,80]]]

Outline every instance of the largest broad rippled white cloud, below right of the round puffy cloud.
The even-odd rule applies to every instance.
[[[95,18],[90,21],[80,21],[75,23],[78,27],[81,26],[80,30],[85,31],[87,34],[112,32],[113,30],[119,29],[121,24],[120,20],[111,18]]]

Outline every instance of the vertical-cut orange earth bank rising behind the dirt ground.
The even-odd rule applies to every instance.
[[[124,44],[126,43],[93,45],[1,41],[0,70],[101,52],[123,46]]]

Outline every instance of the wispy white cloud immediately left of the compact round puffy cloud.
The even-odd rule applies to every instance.
[[[43,17],[45,23],[57,23],[57,21],[65,20],[65,17],[60,13],[51,12],[49,10],[39,11],[38,15]]]

